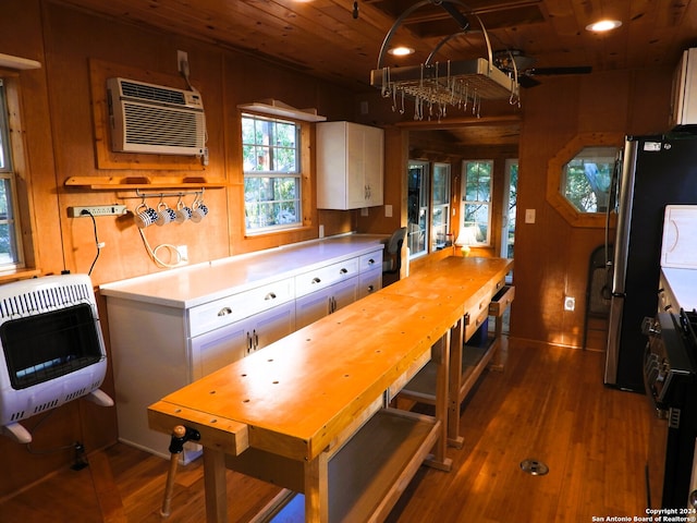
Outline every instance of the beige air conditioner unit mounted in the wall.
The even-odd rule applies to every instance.
[[[114,151],[204,156],[206,115],[199,93],[109,78],[107,97]]]

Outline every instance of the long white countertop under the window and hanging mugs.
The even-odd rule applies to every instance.
[[[330,236],[106,283],[99,290],[105,296],[188,308],[224,297],[231,289],[254,289],[375,252],[382,248],[384,239],[375,234]]]

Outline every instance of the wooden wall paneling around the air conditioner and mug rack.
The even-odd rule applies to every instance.
[[[63,186],[63,182],[72,175],[113,173],[111,170],[99,169],[95,156],[89,101],[90,62],[94,65],[93,72],[101,72],[102,80],[113,73],[156,84],[173,83],[175,86],[179,82],[181,87],[185,87],[184,80],[176,74],[176,49],[187,49],[192,83],[200,88],[207,113],[210,163],[206,168],[206,175],[224,179],[222,121],[219,117],[222,114],[220,50],[89,16],[56,4],[47,4],[45,17],[45,41],[50,50],[47,54],[47,71],[51,86],[51,124],[54,141],[59,144],[56,148],[53,192],[57,191],[60,198],[58,216],[65,245],[65,268],[86,272],[96,253],[91,222],[88,218],[68,218],[68,207],[115,202],[123,203],[133,210],[140,203],[138,198],[134,198],[135,192],[83,191]],[[86,41],[90,45],[85,46]],[[119,46],[114,42],[119,42]],[[161,59],[164,56],[170,57],[170,60]],[[102,96],[103,88],[95,86],[95,90],[99,90]],[[151,155],[136,156],[149,158]],[[137,169],[119,170],[118,174],[157,178],[161,174],[171,177],[176,172],[152,169],[152,159],[144,159],[134,167]],[[196,175],[200,175],[199,171],[196,172]],[[211,211],[200,224],[183,223],[147,229],[144,234],[151,247],[163,243],[187,245],[191,263],[227,256],[229,240],[224,194],[221,190],[209,190],[205,199]],[[148,203],[157,204],[157,200],[150,199]],[[169,198],[168,203],[174,205],[176,198]],[[161,270],[150,259],[138,230],[129,217],[97,219],[99,240],[107,246],[95,266],[95,284]],[[160,253],[167,258],[164,251]]]

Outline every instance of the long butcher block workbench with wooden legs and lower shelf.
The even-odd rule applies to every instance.
[[[403,280],[470,272],[452,296],[378,291],[150,405],[151,428],[200,433],[207,520],[228,521],[225,467],[299,492],[309,522],[381,521],[423,463],[450,470],[451,333],[510,264],[473,259]],[[427,364],[435,415],[390,408]]]

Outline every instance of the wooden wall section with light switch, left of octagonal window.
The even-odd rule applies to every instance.
[[[547,161],[575,134],[577,78],[546,78],[523,95],[513,281],[516,303],[526,305],[511,308],[511,333],[552,340],[560,332],[563,245],[571,231],[547,204]],[[526,209],[536,210],[535,223],[525,223]]]

